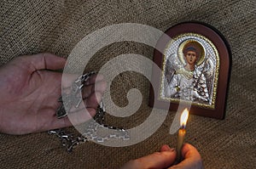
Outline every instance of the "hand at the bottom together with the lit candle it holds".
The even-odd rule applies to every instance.
[[[183,110],[180,117],[180,129],[177,135],[177,155],[174,149],[168,145],[163,145],[160,152],[143,156],[139,159],[129,161],[122,169],[130,168],[204,168],[201,155],[191,144],[184,144],[183,141],[186,134],[186,123],[189,118],[189,110]],[[182,159],[182,150],[183,157]],[[176,159],[175,159],[176,158]],[[182,162],[181,162],[182,161]]]

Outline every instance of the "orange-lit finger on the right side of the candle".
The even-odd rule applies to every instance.
[[[182,149],[182,155],[184,160],[175,166],[170,167],[170,169],[189,169],[189,168],[203,168],[201,155],[191,144],[184,144]]]

